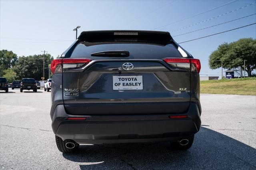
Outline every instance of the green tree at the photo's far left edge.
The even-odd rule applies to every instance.
[[[18,57],[12,51],[3,49],[0,51],[0,77],[4,75],[4,70],[15,65]]]

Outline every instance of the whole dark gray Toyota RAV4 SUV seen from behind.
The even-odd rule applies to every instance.
[[[169,32],[82,32],[51,64],[58,149],[158,141],[190,148],[201,125],[200,67]]]

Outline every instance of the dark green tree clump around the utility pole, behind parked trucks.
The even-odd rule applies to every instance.
[[[45,55],[30,55],[19,57],[18,62],[14,67],[19,79],[22,78],[34,78],[41,80],[43,77],[43,69],[45,72],[45,78],[48,79],[48,64],[52,62],[53,57],[50,54]],[[43,68],[43,61],[45,61]]]

